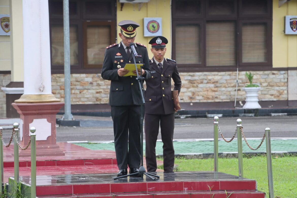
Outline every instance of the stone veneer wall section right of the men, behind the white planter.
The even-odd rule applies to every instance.
[[[260,101],[287,100],[287,71],[254,71],[254,84],[260,85]],[[181,102],[235,101],[236,72],[195,72],[181,75]],[[238,72],[237,101],[245,100],[242,88],[249,83],[245,72]]]

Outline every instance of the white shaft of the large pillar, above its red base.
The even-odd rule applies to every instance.
[[[48,1],[23,0],[24,94],[52,94]]]

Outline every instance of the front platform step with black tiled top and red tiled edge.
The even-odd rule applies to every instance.
[[[160,178],[153,181],[128,177],[113,180],[115,174],[51,175],[37,177],[36,194],[41,197],[253,197],[264,198],[265,193],[256,190],[256,181],[237,176],[209,172],[157,173]],[[29,176],[22,177],[30,184]],[[211,192],[209,187],[211,187]],[[63,196],[61,196],[63,195]],[[224,198],[225,198],[224,197]]]

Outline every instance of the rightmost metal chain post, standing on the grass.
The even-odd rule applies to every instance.
[[[266,155],[267,155],[267,174],[268,174],[268,189],[269,198],[274,198],[273,178],[272,178],[272,162],[271,162],[271,144],[270,144],[270,129],[265,129],[266,135]]]

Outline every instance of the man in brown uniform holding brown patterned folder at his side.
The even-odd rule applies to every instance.
[[[165,37],[154,37],[150,40],[151,52],[154,57],[150,60],[151,77],[146,80],[145,96],[145,137],[146,137],[146,168],[148,172],[157,170],[156,141],[161,127],[163,142],[164,172],[172,172],[174,165],[173,130],[175,108],[171,94],[171,79],[174,90],[181,90],[181,78],[176,61],[164,58],[166,53]]]

